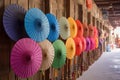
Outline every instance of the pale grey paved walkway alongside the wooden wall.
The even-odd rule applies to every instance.
[[[77,80],[120,80],[120,49],[104,52]]]

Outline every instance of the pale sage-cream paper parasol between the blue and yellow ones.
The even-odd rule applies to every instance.
[[[59,20],[60,24],[60,36],[62,39],[66,40],[70,36],[70,25],[65,17],[61,17]]]

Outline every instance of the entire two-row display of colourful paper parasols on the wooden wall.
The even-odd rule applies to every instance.
[[[99,47],[95,26],[82,24],[72,17],[57,19],[52,13],[44,14],[38,8],[26,11],[11,4],[4,11],[3,25],[9,38],[15,41],[10,66],[21,78],[50,67],[60,69],[66,58],[71,60]]]

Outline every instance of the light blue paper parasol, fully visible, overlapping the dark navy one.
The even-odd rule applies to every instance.
[[[48,37],[50,27],[45,14],[38,8],[31,8],[25,15],[25,29],[30,38],[41,42]]]

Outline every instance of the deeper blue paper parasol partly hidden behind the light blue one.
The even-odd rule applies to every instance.
[[[48,35],[48,40],[54,42],[59,37],[59,24],[56,17],[53,14],[48,13],[46,14],[46,16],[50,24],[50,33]]]

